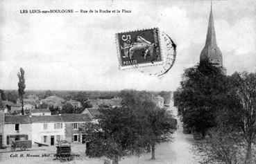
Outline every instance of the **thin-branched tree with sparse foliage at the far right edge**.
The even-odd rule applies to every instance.
[[[232,82],[242,106],[241,129],[247,143],[246,163],[252,163],[252,145],[256,133],[256,73],[234,73]]]

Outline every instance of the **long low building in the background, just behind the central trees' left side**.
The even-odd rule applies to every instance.
[[[121,107],[121,99],[120,98],[112,98],[112,99],[93,99],[88,100],[90,104],[92,104],[93,108],[99,108],[101,104],[104,104],[108,107]]]

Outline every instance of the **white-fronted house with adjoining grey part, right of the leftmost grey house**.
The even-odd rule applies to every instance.
[[[90,122],[87,114],[32,116],[32,142],[55,145],[58,140],[82,142],[81,127]]]

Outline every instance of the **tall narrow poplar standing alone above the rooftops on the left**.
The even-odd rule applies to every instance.
[[[25,78],[24,78],[24,74],[25,74],[25,71],[20,68],[19,69],[20,72],[17,73],[18,75],[18,78],[19,78],[19,83],[18,83],[18,86],[19,86],[19,89],[18,89],[18,93],[19,93],[19,99],[21,100],[22,102],[22,115],[24,115],[24,103],[23,103],[23,99],[24,99],[24,94],[25,94],[25,88],[26,88],[26,84],[25,84]]]

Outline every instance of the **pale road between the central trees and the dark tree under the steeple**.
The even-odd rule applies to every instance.
[[[169,110],[173,111],[173,115],[177,116],[178,111],[173,107],[173,101],[170,103]],[[177,117],[178,118],[178,117]],[[125,158],[120,161],[120,164],[128,163],[163,163],[163,164],[194,164],[196,163],[195,156],[191,152],[194,139],[190,134],[183,134],[182,123],[178,118],[178,129],[173,134],[171,143],[161,143],[157,145],[155,150],[155,161],[150,161],[151,154],[144,154],[143,156]]]

